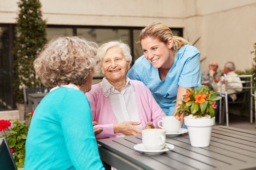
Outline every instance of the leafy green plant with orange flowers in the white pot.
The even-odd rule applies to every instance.
[[[214,108],[217,107],[215,100],[221,99],[220,96],[213,96],[214,94],[217,94],[217,92],[209,92],[208,87],[205,86],[201,86],[198,89],[195,88],[193,91],[187,89],[187,93],[183,95],[183,99],[173,101],[182,101],[181,104],[178,104],[179,108],[175,115],[184,113],[184,116],[193,114],[198,117],[205,115],[214,117]]]

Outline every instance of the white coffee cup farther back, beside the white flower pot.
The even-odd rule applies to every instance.
[[[163,126],[160,126],[161,122]],[[162,120],[158,121],[157,124],[160,128],[163,128],[166,133],[177,133],[181,127],[180,120],[177,120],[174,116],[162,117]]]

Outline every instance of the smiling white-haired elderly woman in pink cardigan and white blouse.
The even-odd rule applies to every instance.
[[[110,41],[98,49],[100,67],[106,75],[86,93],[92,110],[94,129],[103,131],[96,138],[115,138],[141,134],[142,129],[159,128],[166,116],[150,90],[141,81],[126,77],[132,61],[127,44]]]

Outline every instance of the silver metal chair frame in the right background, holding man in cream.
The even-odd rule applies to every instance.
[[[227,77],[239,77],[239,78],[246,78],[247,80],[245,81],[235,81],[235,82],[228,82],[227,81]],[[220,94],[222,97],[225,97],[225,111],[226,111],[226,122],[227,122],[227,126],[228,126],[228,103],[234,103],[234,104],[241,104],[241,103],[245,103],[246,102],[246,95],[248,96],[248,99],[250,100],[250,105],[249,105],[249,114],[250,114],[250,123],[252,124],[252,97],[254,96],[254,100],[255,100],[255,94],[252,93],[252,75],[226,75],[224,74],[224,80],[225,80],[225,94]],[[222,77],[220,78],[220,82],[222,82]],[[228,102],[228,95],[232,95],[232,94],[228,94],[228,89],[241,89],[241,88],[231,88],[228,87],[228,83],[242,83],[243,84],[243,90],[240,92],[236,92],[236,93],[232,93],[232,94],[244,94],[244,99],[242,102],[239,101],[234,101],[234,102]],[[250,83],[250,86],[249,86]],[[250,91],[249,91],[250,89]],[[221,92],[221,86],[220,86],[220,92]],[[255,90],[254,90],[254,93]],[[256,106],[256,102],[255,102],[255,106]],[[219,119],[219,123],[221,124],[221,118],[222,118],[222,100],[220,100],[220,119]],[[255,109],[256,111],[256,109]],[[256,112],[255,112],[255,116],[256,116]],[[255,118],[256,120],[256,118]],[[256,125],[256,124],[255,124]]]

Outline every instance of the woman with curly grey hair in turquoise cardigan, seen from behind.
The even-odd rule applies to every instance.
[[[33,114],[24,169],[104,169],[85,96],[97,71],[96,52],[94,42],[60,37],[34,61],[41,81],[54,88]]]

